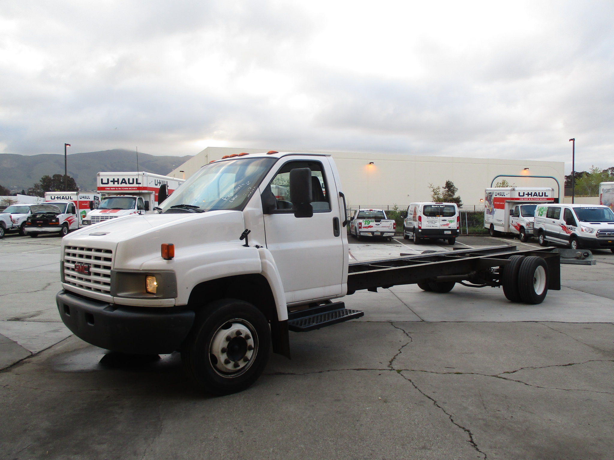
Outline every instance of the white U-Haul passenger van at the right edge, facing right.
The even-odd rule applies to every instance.
[[[614,253],[614,212],[604,205],[538,205],[533,232],[542,246],[551,241],[572,249],[610,249]]]

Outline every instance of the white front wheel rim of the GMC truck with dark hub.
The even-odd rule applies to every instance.
[[[236,377],[252,365],[257,351],[254,326],[237,318],[217,329],[209,346],[209,359],[219,375]]]

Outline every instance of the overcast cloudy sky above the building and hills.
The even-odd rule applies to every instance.
[[[614,2],[0,4],[0,151],[209,145],[614,166]]]

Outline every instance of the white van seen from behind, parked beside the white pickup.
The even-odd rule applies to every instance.
[[[414,244],[423,239],[445,239],[456,243],[461,214],[456,203],[412,203],[403,220],[403,238],[413,238]]]

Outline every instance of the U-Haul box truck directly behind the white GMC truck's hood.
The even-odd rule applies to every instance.
[[[99,172],[97,190],[104,193],[98,209],[88,213],[85,224],[131,214],[143,214],[165,201],[183,179],[150,172]]]

